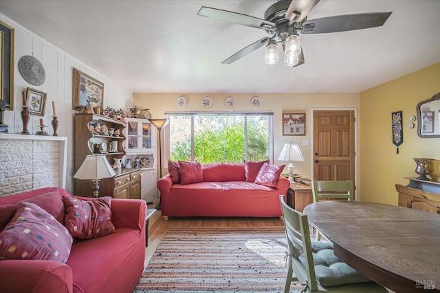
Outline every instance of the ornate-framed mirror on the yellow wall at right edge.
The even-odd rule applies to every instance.
[[[440,137],[440,93],[417,104],[419,137]]]

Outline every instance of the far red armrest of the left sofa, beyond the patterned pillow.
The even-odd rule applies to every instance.
[[[145,200],[111,199],[111,222],[115,228],[133,228],[144,231],[146,217]]]

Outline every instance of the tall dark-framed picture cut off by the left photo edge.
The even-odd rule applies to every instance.
[[[14,28],[0,21],[0,107],[14,109]]]

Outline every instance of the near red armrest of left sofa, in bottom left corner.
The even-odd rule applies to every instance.
[[[0,292],[73,292],[72,270],[61,261],[0,260]]]

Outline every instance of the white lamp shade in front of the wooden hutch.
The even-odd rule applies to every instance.
[[[113,177],[115,175],[115,171],[105,156],[89,154],[74,175],[74,178],[79,180],[96,180]]]

